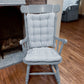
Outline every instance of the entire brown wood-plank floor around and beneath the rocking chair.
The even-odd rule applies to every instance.
[[[59,64],[61,84],[84,84],[84,18],[62,23],[61,38],[68,44]],[[31,66],[33,71],[50,71],[49,66]],[[26,65],[23,63],[0,70],[0,84],[25,84]],[[29,84],[56,84],[54,76],[30,76]]]

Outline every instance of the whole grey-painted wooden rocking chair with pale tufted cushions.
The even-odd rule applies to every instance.
[[[27,64],[26,84],[28,84],[29,75],[55,75],[60,84],[58,64],[62,61],[60,54],[67,40],[56,37],[56,21],[59,11],[59,5],[21,6],[21,12],[24,13],[26,37],[20,41],[20,44],[25,55],[23,62]],[[58,52],[59,42],[62,44]],[[55,50],[56,46],[57,50]],[[31,65],[51,65],[53,72],[30,73]]]

